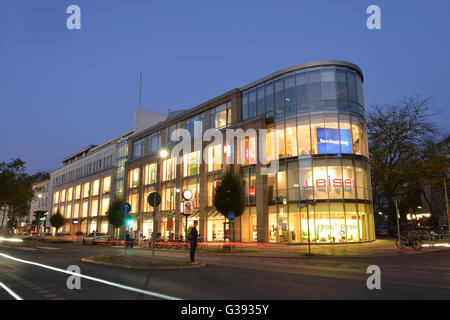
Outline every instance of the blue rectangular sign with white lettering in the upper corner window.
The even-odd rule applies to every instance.
[[[351,135],[349,129],[317,128],[317,152],[324,153],[352,153]],[[339,144],[340,135],[340,144]],[[339,150],[339,145],[341,150]]]

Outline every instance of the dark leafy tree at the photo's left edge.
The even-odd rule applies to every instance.
[[[0,162],[0,206],[8,206],[12,217],[29,213],[29,202],[33,199],[32,181],[25,173],[25,162],[21,159]],[[3,215],[2,225],[4,218]]]

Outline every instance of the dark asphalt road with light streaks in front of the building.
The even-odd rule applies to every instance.
[[[207,264],[191,270],[133,271],[93,265],[82,257],[121,254],[109,246],[0,244],[0,254],[66,269],[79,266],[81,289],[70,290],[70,275],[0,255],[0,282],[23,299],[450,299],[450,250],[389,257],[248,257],[199,254]],[[131,249],[129,254],[145,254]],[[158,257],[188,259],[188,252],[161,250]],[[367,289],[367,267],[381,268],[381,290]],[[108,283],[100,283],[99,280]],[[129,288],[117,287],[120,285]],[[134,290],[134,291],[133,291]],[[136,292],[136,290],[145,290]],[[163,297],[158,295],[164,295]],[[0,289],[0,299],[11,296]]]

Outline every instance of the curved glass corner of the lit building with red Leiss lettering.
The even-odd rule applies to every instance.
[[[245,89],[242,119],[259,115],[277,129],[280,159],[267,178],[269,241],[305,243],[308,230],[316,243],[375,240],[359,70],[307,68]],[[243,178],[247,172],[242,168]],[[307,200],[315,204],[305,207]],[[249,201],[242,221],[251,215]],[[247,233],[242,241],[253,241]]]

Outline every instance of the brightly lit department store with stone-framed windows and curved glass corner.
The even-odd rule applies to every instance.
[[[367,128],[359,67],[343,61],[293,66],[226,92],[189,110],[169,112],[166,120],[128,137],[123,197],[132,206],[132,229],[153,231],[147,196],[162,196],[157,233],[185,236],[184,190],[192,194],[190,225],[199,222],[205,241],[223,241],[226,219],[213,207],[213,193],[224,170],[238,172],[246,209],[235,220],[238,242],[345,243],[375,240]],[[196,128],[197,126],[197,128]],[[192,149],[171,156],[176,129],[188,130]],[[195,135],[215,128],[223,143],[211,145]],[[227,129],[258,135],[226,140]],[[276,146],[276,154],[273,146]],[[278,161],[264,174],[258,158]],[[168,156],[162,157],[161,150]],[[231,159],[231,160],[230,160]],[[200,161],[199,161],[200,160]],[[225,163],[225,164],[223,164]],[[308,201],[309,200],[309,201]]]

